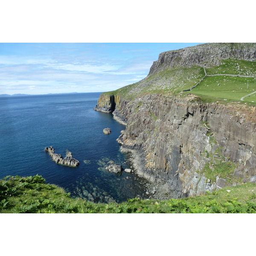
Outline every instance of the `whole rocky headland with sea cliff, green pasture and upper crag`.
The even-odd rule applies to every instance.
[[[96,110],[126,125],[118,142],[153,198],[256,181],[255,60],[254,43],[163,52],[145,79],[100,96]]]

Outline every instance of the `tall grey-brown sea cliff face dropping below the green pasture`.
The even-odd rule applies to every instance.
[[[144,102],[139,111],[136,101]],[[200,195],[236,185],[229,180],[232,175],[233,180],[256,175],[256,122],[245,113],[153,94],[127,107],[128,125],[118,139],[121,150],[133,154],[138,174],[169,196]],[[231,175],[207,178],[221,165],[230,166]]]

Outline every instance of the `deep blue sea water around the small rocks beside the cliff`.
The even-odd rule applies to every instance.
[[[112,114],[97,112],[100,93],[34,95],[0,98],[0,178],[42,175],[71,196],[94,202],[125,201],[140,195],[145,181],[135,173],[114,174],[104,165],[112,160],[129,168],[116,139],[125,129]],[[103,134],[104,128],[111,134]],[[76,168],[52,161],[55,153],[72,152]]]

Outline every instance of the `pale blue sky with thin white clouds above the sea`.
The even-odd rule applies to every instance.
[[[116,90],[148,75],[161,52],[199,43],[0,43],[0,94]]]

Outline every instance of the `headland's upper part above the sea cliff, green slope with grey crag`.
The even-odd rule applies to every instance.
[[[177,54],[181,54],[179,52],[183,52],[183,49],[177,50],[175,55],[169,55],[173,51],[161,53],[159,60],[155,61],[157,64],[152,65],[151,71],[145,79],[104,94],[121,95],[132,100],[148,93],[161,93],[178,97],[185,97],[188,93],[192,93],[198,96],[198,100],[202,102],[240,102],[241,104],[256,105],[256,94],[241,100],[242,97],[256,91],[255,44],[227,43],[205,44],[203,46],[188,47],[189,58],[192,59],[193,52],[195,54],[193,61],[184,62],[186,61],[186,56],[183,56],[184,53],[181,55],[182,57],[178,57]],[[214,49],[217,52],[215,55]],[[248,51],[247,55],[246,50]],[[235,51],[236,54],[232,55],[232,51]],[[212,54],[211,57],[209,57],[210,53]],[[241,58],[239,58],[239,53]],[[200,61],[201,58],[206,58],[205,56],[212,59]],[[183,65],[179,62],[182,58],[185,63]],[[247,60],[242,58],[247,58]],[[201,81],[203,78],[204,80]],[[189,92],[183,92],[196,84],[198,86]]]

